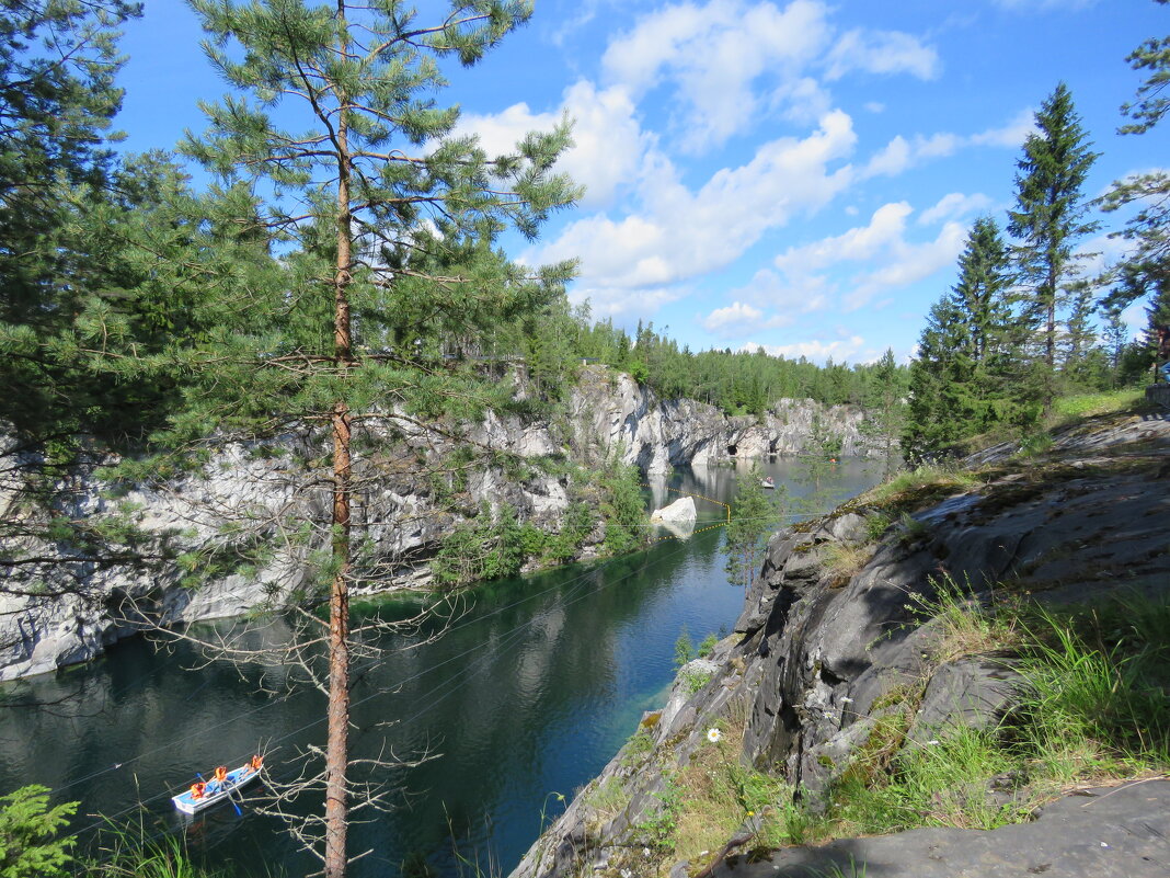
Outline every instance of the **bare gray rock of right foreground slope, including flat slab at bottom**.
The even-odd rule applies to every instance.
[[[896,746],[911,747],[958,726],[999,722],[1017,698],[1010,664],[996,656],[932,658],[941,627],[932,608],[944,581],[972,601],[1004,584],[1051,603],[1170,590],[1170,420],[1115,418],[1069,431],[1055,445],[1051,457],[1026,461],[996,452],[1002,467],[985,483],[911,510],[909,522],[872,543],[868,510],[855,503],[777,534],[735,637],[713,656],[718,670],[710,681],[682,704],[676,687],[654,727],[652,756],[633,760],[627,745],[598,781],[615,784],[628,804],[599,815],[591,784],[512,878],[567,878],[611,860],[631,863],[634,828],[661,809],[653,793],[663,771],[688,764],[704,729],[732,702],[748,706],[741,760],[800,787],[813,805],[890,714],[906,719]],[[842,567],[847,550],[861,562]],[[803,876],[808,867],[827,874],[834,865],[849,874],[851,855],[867,874],[1166,874],[1170,783],[1135,784],[1082,804],[1061,802],[1037,824],[993,832],[915,830],[763,860],[728,858],[714,874]],[[639,874],[634,865],[624,867]]]

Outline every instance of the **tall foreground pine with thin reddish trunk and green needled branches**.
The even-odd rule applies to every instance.
[[[431,425],[455,435],[509,404],[507,382],[445,352],[449,339],[488,339],[563,295],[571,265],[525,272],[496,241],[509,227],[534,238],[576,197],[551,173],[569,132],[530,135],[489,158],[474,138],[453,136],[457,109],[434,97],[446,84],[440,61],[474,64],[528,20],[530,4],[456,1],[434,26],[397,0],[192,5],[235,91],[204,105],[211,128],[184,150],[220,180],[213,220],[270,239],[281,255],[220,277],[200,303],[208,329],[177,339],[172,357],[193,373],[166,439],[263,437],[295,424],[329,433],[325,814],[315,850],[326,878],[340,878],[349,594],[359,575],[355,434],[377,425],[385,441]]]

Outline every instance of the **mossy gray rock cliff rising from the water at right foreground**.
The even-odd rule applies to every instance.
[[[934,739],[945,729],[993,728],[1019,700],[1019,675],[1012,660],[978,647],[940,654],[944,590],[961,605],[978,605],[1004,589],[1046,606],[1121,590],[1170,594],[1164,416],[1114,416],[1058,433],[1045,455],[1025,459],[1014,452],[990,450],[968,461],[978,467],[973,473],[911,482],[881,502],[863,495],[777,534],[735,633],[702,667],[682,668],[667,706],[631,729],[636,734],[629,743],[532,846],[512,878],[853,874],[833,869],[858,851],[894,863],[881,845],[838,843],[824,856],[800,848],[771,853],[759,837],[763,809],[748,804],[745,773],[758,773],[751,775],[757,786],[775,777],[789,790],[787,801],[769,794],[766,809],[815,812],[826,807],[834,783],[866,776],[902,748],[938,745]],[[717,748],[729,752],[714,766]],[[683,776],[697,777],[688,787],[691,795],[720,777],[739,778],[727,793],[739,797],[727,844],[689,852],[690,863],[677,862],[683,853],[673,842],[662,846],[686,810],[676,786]],[[963,795],[987,796],[996,808],[1025,808],[1013,798],[1018,778],[997,783],[971,790],[969,778],[955,778]],[[1164,797],[1164,787],[1170,784],[1149,795]],[[1143,800],[1134,801],[1140,809]],[[1140,841],[1161,845],[1161,864],[1147,858],[1141,865],[1147,851],[1138,850],[1124,860],[1124,867],[1137,862],[1137,871],[1108,873],[1161,874],[1170,850],[1151,832]],[[963,836],[948,836],[949,851],[956,835]],[[1030,845],[1028,856],[1041,848],[1034,838],[1018,843]],[[907,855],[889,873],[1023,873],[940,871],[932,865],[936,849],[920,848],[921,871]],[[990,863],[986,845],[969,853],[972,863]],[[963,856],[956,862],[966,862]],[[863,863],[858,860],[858,874],[865,873]],[[1038,859],[1032,871],[1047,867]]]

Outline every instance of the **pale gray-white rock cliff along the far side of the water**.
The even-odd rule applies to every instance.
[[[840,434],[844,453],[866,450],[863,416],[855,409],[784,400],[762,419],[727,418],[693,400],[660,400],[628,376],[598,366],[584,370],[566,412],[564,423],[489,416],[472,438],[522,458],[562,457],[586,467],[620,452],[625,462],[644,472],[663,473],[672,466],[799,451],[813,418],[820,418]],[[397,443],[376,440],[374,446],[357,473],[362,491],[355,523],[373,560],[356,590],[426,585],[429,560],[460,516],[435,512],[434,486],[417,461],[449,452],[450,444],[418,434]],[[88,660],[143,626],[232,617],[296,599],[312,558],[303,540],[280,537],[290,522],[325,517],[328,474],[310,478],[312,465],[304,462],[312,460],[315,448],[316,440],[307,433],[269,444],[225,445],[198,472],[119,489],[116,496],[97,475],[102,461],[78,467],[60,486],[68,500],[56,512],[73,520],[121,515],[152,535],[156,544],[146,555],[161,554],[165,543],[171,556],[186,555],[191,564],[206,565],[216,551],[247,548],[249,536],[276,548],[245,571],[225,572],[193,589],[184,585],[184,570],[174,564],[71,560],[78,557],[74,547],[29,537],[18,540],[19,546],[0,546],[5,553],[43,558],[12,569],[0,589],[0,680]],[[5,451],[0,447],[0,457]],[[43,521],[43,510],[21,500],[20,472],[5,468],[0,513],[6,521]],[[507,502],[521,521],[545,530],[559,529],[569,505],[566,476],[539,472],[516,481],[501,469],[479,469],[461,491],[467,515],[483,500],[493,508]],[[317,543],[328,540],[324,531],[317,537]]]

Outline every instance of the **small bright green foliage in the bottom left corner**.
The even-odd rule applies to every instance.
[[[49,807],[49,790],[29,786],[0,796],[0,878],[70,874],[71,838],[57,838],[77,811],[76,802]]]

